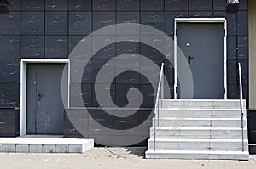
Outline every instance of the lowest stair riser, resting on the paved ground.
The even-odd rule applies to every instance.
[[[147,153],[147,159],[198,159],[198,160],[245,160],[249,159],[249,155],[210,155],[210,154],[161,154],[161,153]]]

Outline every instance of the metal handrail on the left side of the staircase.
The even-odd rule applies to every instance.
[[[160,77],[157,87],[157,93],[156,93],[156,99],[154,104],[154,151],[155,151],[155,135],[156,135],[156,117],[157,117],[157,126],[159,127],[159,98],[161,95],[161,99],[164,97],[164,63],[161,64],[161,70],[160,70]],[[161,91],[161,93],[160,93]],[[163,103],[161,102],[161,107],[163,106]],[[157,115],[156,115],[156,109],[157,109]]]

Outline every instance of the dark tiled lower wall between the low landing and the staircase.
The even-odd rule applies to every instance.
[[[108,110],[108,109],[107,109]],[[113,110],[120,114],[120,110]],[[127,110],[129,111],[129,110]],[[143,114],[151,113],[151,109],[138,110],[137,116],[131,119],[130,124],[137,123]],[[90,109],[90,113],[102,114],[102,110]],[[124,112],[124,111],[122,111]],[[93,138],[96,145],[108,146],[146,146],[149,138],[149,128],[152,127],[152,114],[143,125],[127,130],[119,130],[121,125],[111,123],[109,119],[93,119],[85,109],[67,109],[64,115],[64,138]],[[103,116],[103,115],[102,115]],[[113,126],[102,127],[102,121],[105,124]],[[118,128],[119,127],[119,128]]]

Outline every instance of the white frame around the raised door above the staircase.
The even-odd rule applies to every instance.
[[[223,23],[224,24],[224,99],[228,99],[227,20],[225,18],[175,18],[174,19],[174,99],[177,99],[177,23]]]

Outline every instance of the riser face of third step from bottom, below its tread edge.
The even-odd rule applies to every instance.
[[[156,138],[201,138],[201,139],[239,139],[241,131],[238,130],[156,130]],[[154,128],[150,129],[150,137],[154,137]],[[244,131],[247,138],[247,131]]]

